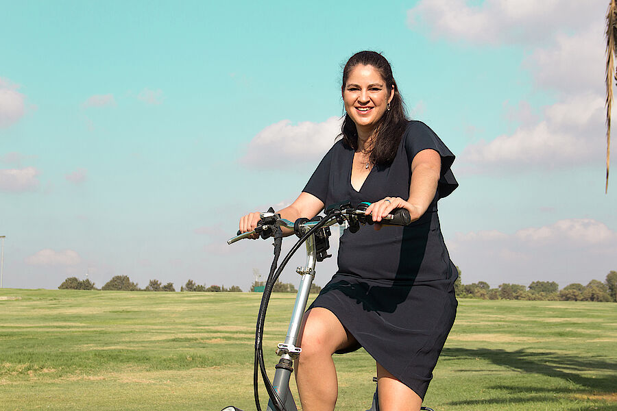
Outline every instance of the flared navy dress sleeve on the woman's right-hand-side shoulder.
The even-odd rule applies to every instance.
[[[441,157],[441,173],[437,184],[437,193],[440,199],[447,197],[459,186],[452,170],[450,170],[455,155],[428,125],[422,123],[422,121],[409,122],[407,130],[405,130],[405,151],[407,151],[410,171],[413,158],[424,149],[433,149]]]

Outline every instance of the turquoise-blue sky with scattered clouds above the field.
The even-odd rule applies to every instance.
[[[247,289],[269,242],[225,240],[302,190],[361,49],[384,53],[409,114],[457,154],[439,209],[464,283],[617,269],[605,1],[2,3],[5,287],[88,273]]]

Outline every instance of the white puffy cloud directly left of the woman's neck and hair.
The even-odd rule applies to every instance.
[[[240,162],[261,169],[315,163],[335,143],[341,132],[341,121],[339,117],[330,117],[323,123],[303,121],[293,125],[289,120],[282,120],[269,125],[249,142]]]

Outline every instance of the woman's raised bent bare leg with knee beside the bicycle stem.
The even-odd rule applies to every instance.
[[[355,339],[335,314],[316,307],[304,314],[299,340],[302,353],[295,362],[295,382],[302,411],[334,410],[339,386],[332,354]]]

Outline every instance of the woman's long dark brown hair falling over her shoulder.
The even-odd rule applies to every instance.
[[[394,86],[394,97],[390,102],[390,110],[387,110],[375,129],[373,136],[373,145],[370,149],[370,161],[373,164],[388,165],[394,161],[394,156],[400,143],[400,138],[407,127],[407,115],[405,114],[405,105],[398,92],[398,86],[392,76],[392,68],[386,58],[375,51],[359,51],[351,56],[343,68],[343,84],[341,84],[341,92],[345,90],[345,85],[349,78],[349,74],[356,66],[372,66],[381,77],[384,79],[386,89],[391,90]],[[356,124],[351,119],[349,114],[345,114],[341,134],[343,142],[358,149],[358,132]],[[340,136],[339,135],[339,136]]]

